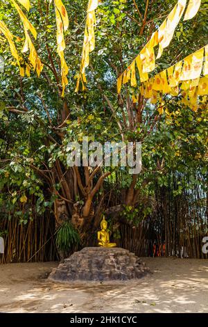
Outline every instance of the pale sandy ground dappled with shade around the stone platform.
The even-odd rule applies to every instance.
[[[57,262],[0,265],[0,312],[208,312],[208,260],[143,258],[153,272],[119,283],[55,283]]]

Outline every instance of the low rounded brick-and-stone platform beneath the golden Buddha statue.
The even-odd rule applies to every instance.
[[[130,280],[149,272],[139,257],[124,248],[83,248],[53,269],[50,280]]]

